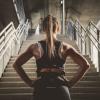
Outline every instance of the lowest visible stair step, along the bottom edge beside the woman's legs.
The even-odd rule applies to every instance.
[[[72,100],[100,100],[100,94],[96,93],[71,93]],[[34,100],[32,93],[0,94],[1,100]]]

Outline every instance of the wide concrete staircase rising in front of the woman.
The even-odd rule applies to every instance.
[[[19,54],[31,43],[42,38],[44,38],[44,35],[28,37],[28,39],[22,44]],[[78,50],[75,42],[66,39],[64,36],[58,36],[58,38],[68,42]],[[34,100],[32,96],[34,89],[28,87],[12,67],[17,56],[10,59],[0,80],[0,100]],[[72,100],[100,100],[100,77],[89,56],[84,56],[91,64],[91,68],[86,75],[72,89],[70,89]],[[31,79],[36,78],[36,64],[34,58],[31,58],[22,67]],[[78,67],[79,66],[68,57],[65,64],[66,78],[70,79],[75,73],[77,73]]]

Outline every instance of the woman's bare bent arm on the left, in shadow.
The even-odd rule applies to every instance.
[[[22,78],[22,80],[25,81],[29,86],[32,86],[32,80],[28,77],[28,75],[25,73],[25,71],[22,68],[22,65],[26,63],[31,57],[34,56],[34,49],[35,46],[31,45],[28,47],[28,49],[23,52],[14,62],[13,67],[19,74],[19,76]]]

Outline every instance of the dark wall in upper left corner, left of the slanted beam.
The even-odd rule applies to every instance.
[[[15,27],[18,26],[18,19],[13,0],[0,0],[0,30],[7,26],[11,21],[14,22]]]

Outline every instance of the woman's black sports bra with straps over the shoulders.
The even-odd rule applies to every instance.
[[[48,67],[55,67],[55,68],[63,68],[63,65],[66,61],[66,59],[63,59],[59,56],[58,50],[61,46],[61,42],[56,40],[55,42],[55,56],[52,57],[51,59],[48,57],[48,52],[47,52],[47,45],[45,40],[39,41],[44,53],[43,56],[39,59],[36,60],[36,65],[37,65],[37,71],[41,68],[48,68]]]

